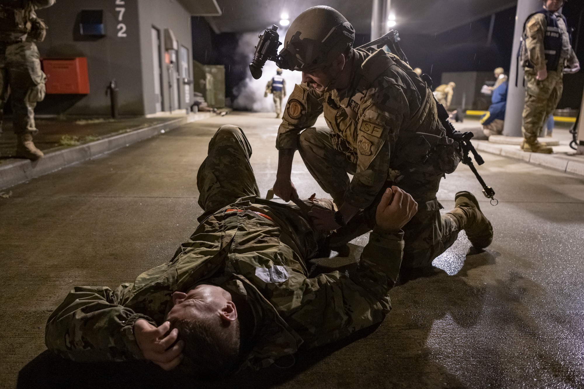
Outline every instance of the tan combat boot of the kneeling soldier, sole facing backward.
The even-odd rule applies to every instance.
[[[463,190],[454,196],[456,206],[447,215],[453,216],[458,228],[467,233],[468,240],[478,249],[483,249],[493,241],[493,226],[478,205],[477,197]]]

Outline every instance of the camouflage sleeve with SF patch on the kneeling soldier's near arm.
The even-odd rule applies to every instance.
[[[384,82],[389,82],[384,79]],[[399,85],[374,88],[361,100],[357,123],[357,171],[345,192],[345,201],[364,209],[377,196],[390,171],[390,157],[409,115],[408,100]]]

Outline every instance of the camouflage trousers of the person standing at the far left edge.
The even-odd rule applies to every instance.
[[[0,129],[4,105],[12,95],[15,134],[36,133],[34,107],[44,99],[46,75],[40,67],[39,50],[33,42],[0,42]]]

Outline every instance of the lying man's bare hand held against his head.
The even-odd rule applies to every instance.
[[[155,327],[144,319],[134,323],[134,337],[145,359],[151,360],[164,370],[172,370],[182,362],[182,350],[185,342],[178,341],[179,330],[171,329],[171,323],[165,321]]]

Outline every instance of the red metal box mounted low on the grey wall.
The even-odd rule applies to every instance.
[[[43,58],[48,94],[87,95],[87,58]]]

